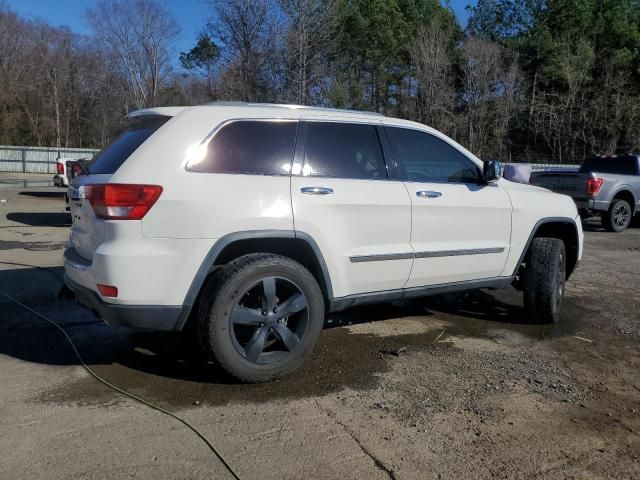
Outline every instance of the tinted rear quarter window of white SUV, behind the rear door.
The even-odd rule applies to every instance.
[[[291,171],[298,122],[243,120],[223,126],[206,157],[189,170],[206,173],[287,175]]]

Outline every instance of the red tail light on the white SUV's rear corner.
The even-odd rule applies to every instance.
[[[140,220],[162,193],[159,185],[107,183],[84,188],[96,217],[105,220]]]

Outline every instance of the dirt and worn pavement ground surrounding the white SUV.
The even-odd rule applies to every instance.
[[[242,479],[640,478],[640,228],[585,226],[558,325],[526,324],[511,289],[358,308],[327,319],[292,377],[252,386],[178,335],[57,300],[62,190],[0,187],[0,290],[63,325],[99,375],[191,422]],[[0,386],[1,479],[229,478],[4,297]]]

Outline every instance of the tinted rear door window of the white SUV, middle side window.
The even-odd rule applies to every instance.
[[[303,175],[386,179],[380,141],[372,125],[309,122]]]

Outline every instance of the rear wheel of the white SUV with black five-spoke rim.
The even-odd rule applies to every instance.
[[[243,382],[266,382],[295,370],[311,354],[324,324],[324,299],[315,278],[279,255],[232,261],[201,298],[202,346]]]

